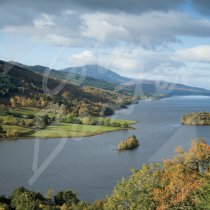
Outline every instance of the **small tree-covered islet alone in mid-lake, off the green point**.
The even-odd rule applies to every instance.
[[[136,138],[136,136],[133,135],[133,136],[128,137],[126,140],[120,142],[117,145],[117,149],[119,151],[122,151],[122,150],[132,150],[132,149],[134,149],[134,148],[136,148],[138,146],[139,146],[139,141]]]

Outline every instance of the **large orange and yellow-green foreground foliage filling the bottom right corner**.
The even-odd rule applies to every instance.
[[[123,179],[104,205],[105,210],[210,209],[210,146],[193,141],[172,160],[143,165]]]

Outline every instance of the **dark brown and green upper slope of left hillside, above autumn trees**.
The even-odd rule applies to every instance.
[[[96,94],[95,91],[93,93],[90,89],[87,91],[83,87],[59,79],[61,76],[58,76],[60,74],[56,74],[56,71],[52,77],[52,75],[43,75],[46,67],[36,66],[34,68],[36,72],[25,65],[0,61],[1,102],[8,103],[9,98],[13,95],[34,97],[44,94],[58,98],[65,92],[68,92],[70,99],[79,101],[90,100],[91,102],[118,104],[117,98],[121,98],[122,101],[125,98],[123,95],[100,89],[97,89]]]

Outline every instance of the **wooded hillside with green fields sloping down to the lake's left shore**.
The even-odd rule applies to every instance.
[[[129,129],[133,123],[103,119],[136,101],[115,91],[75,85],[4,61],[0,82],[0,138],[83,137]]]

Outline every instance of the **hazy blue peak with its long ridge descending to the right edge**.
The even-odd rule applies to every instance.
[[[85,65],[80,67],[71,67],[61,70],[77,74],[82,77],[92,77],[97,80],[108,82],[119,93],[125,94],[163,94],[163,95],[210,95],[210,91],[203,88],[190,87],[183,84],[170,83],[165,81],[136,80],[123,77],[110,69],[99,65]],[[100,83],[101,84],[101,83]],[[107,84],[106,86],[108,86]],[[115,86],[114,86],[115,84]],[[91,83],[89,83],[91,86]]]

